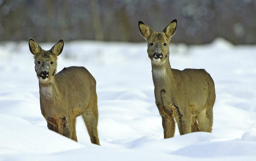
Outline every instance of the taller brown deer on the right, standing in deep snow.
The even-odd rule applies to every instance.
[[[164,138],[174,137],[176,123],[180,135],[190,132],[212,132],[214,81],[205,69],[172,69],[170,39],[176,32],[174,19],[162,32],[153,31],[142,21],[140,34],[148,43],[155,103],[162,117]]]

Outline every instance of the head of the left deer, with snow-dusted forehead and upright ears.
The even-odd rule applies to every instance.
[[[57,56],[62,52],[64,41],[60,39],[52,49],[43,50],[34,39],[28,40],[30,52],[34,55],[36,75],[40,82],[51,82],[56,74]]]

